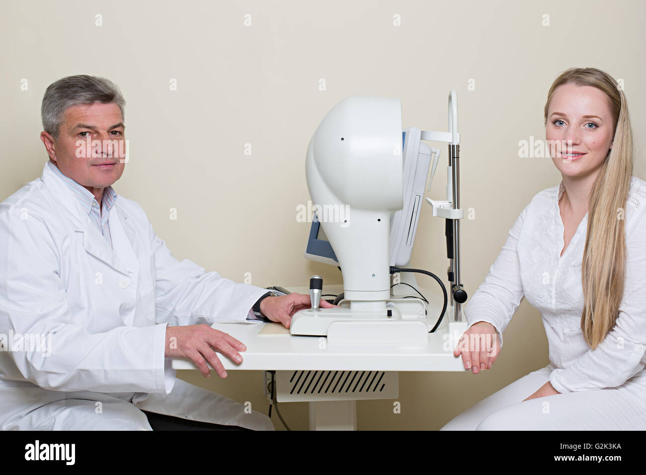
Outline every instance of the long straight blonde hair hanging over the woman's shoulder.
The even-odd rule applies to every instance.
[[[623,90],[612,76],[596,68],[570,68],[550,87],[547,109],[554,90],[567,83],[592,86],[605,92],[612,113],[614,142],[592,185],[588,229],[583,251],[583,338],[596,348],[614,327],[623,299],[626,267],[625,207],[632,178],[633,145],[628,105]]]

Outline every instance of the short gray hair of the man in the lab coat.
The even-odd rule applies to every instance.
[[[115,103],[121,110],[121,118],[125,118],[123,113],[125,100],[117,85],[109,79],[79,74],[78,76],[67,76],[67,78],[51,83],[45,91],[43,105],[41,105],[43,130],[57,139],[63,122],[63,114],[67,109],[74,105],[95,102]]]

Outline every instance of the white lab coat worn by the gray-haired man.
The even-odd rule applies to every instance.
[[[164,355],[168,324],[253,324],[267,290],[175,259],[123,196],[112,249],[90,218],[48,167],[0,204],[0,428],[150,430],[141,409],[273,430],[264,414],[175,379]]]

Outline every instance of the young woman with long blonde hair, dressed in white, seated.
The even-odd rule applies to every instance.
[[[541,312],[550,364],[441,430],[646,430],[646,182],[632,176],[626,98],[606,72],[572,68],[544,113],[563,180],[517,218],[467,302],[454,355],[474,373],[491,368],[525,298]]]

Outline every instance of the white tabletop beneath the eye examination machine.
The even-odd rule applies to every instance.
[[[286,287],[291,292],[309,295],[309,287]],[[343,291],[342,285],[324,286],[324,294],[338,294]],[[442,310],[443,296],[438,288],[437,293],[419,288],[428,299],[427,319],[432,324]],[[410,294],[417,295],[411,289]],[[329,299],[329,297],[326,297]],[[215,323],[213,328],[229,333],[247,346],[240,352],[242,363],[236,364],[227,357],[218,354],[227,370],[366,370],[366,371],[466,371],[461,357],[453,356],[452,343],[448,337],[448,321],[453,319],[453,307],[449,302],[440,326],[433,333],[428,333],[428,343],[421,346],[397,344],[353,344],[330,345],[325,337],[290,335],[282,324],[271,323]],[[462,317],[463,321],[464,314]],[[274,334],[260,334],[264,326]],[[266,331],[267,331],[266,330]],[[265,333],[265,332],[263,332]],[[459,338],[457,335],[456,338]],[[453,341],[456,341],[454,339]],[[443,349],[448,348],[448,351]],[[450,348],[449,348],[450,347]],[[172,367],[176,370],[197,370],[189,359],[174,358]],[[211,365],[209,364],[209,367]]]

